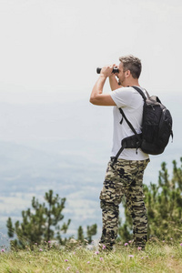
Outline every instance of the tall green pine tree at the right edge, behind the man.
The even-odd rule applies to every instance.
[[[182,163],[182,157],[180,158]],[[149,235],[157,238],[182,236],[182,165],[173,161],[173,174],[169,179],[167,164],[161,165],[158,185],[145,187]]]

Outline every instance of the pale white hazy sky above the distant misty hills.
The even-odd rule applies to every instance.
[[[179,94],[181,0],[0,0],[0,102],[88,96],[96,66],[141,58],[140,85]]]

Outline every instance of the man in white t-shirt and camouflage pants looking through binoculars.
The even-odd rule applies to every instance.
[[[126,148],[120,154],[114,167],[112,160],[121,147],[121,140],[134,133],[122,120],[121,107],[137,133],[141,132],[144,100],[132,87],[139,86],[141,62],[135,56],[119,58],[119,66],[102,68],[100,76],[92,90],[90,102],[97,106],[114,106],[114,133],[111,160],[108,162],[104,186],[100,194],[103,229],[100,243],[112,249],[118,229],[119,204],[125,195],[126,204],[133,219],[134,244],[145,248],[147,242],[147,210],[143,200],[143,174],[149,162],[148,155],[138,148]],[[113,74],[113,68],[118,73]],[[103,94],[106,78],[109,78],[111,92]],[[145,90],[140,87],[146,95]],[[121,122],[122,120],[122,122]]]

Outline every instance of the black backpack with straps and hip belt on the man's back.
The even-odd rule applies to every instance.
[[[167,107],[162,105],[157,96],[144,95],[143,91],[132,86],[144,99],[142,133],[137,134],[135,128],[126,118],[122,108],[119,111],[132,131],[133,136],[127,136],[121,141],[121,148],[116,157],[113,157],[112,166],[115,165],[117,158],[125,148],[141,148],[143,152],[150,155],[160,155],[167,147],[169,137],[173,137],[172,116]],[[147,91],[146,91],[147,92]],[[122,120],[123,120],[122,118]],[[122,121],[120,122],[122,123]]]

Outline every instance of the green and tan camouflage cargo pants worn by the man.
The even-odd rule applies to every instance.
[[[106,169],[100,193],[103,229],[100,243],[112,248],[118,229],[119,204],[126,197],[126,205],[133,219],[134,243],[145,247],[147,242],[147,209],[143,200],[143,174],[149,159],[118,159],[114,169],[111,160]]]

